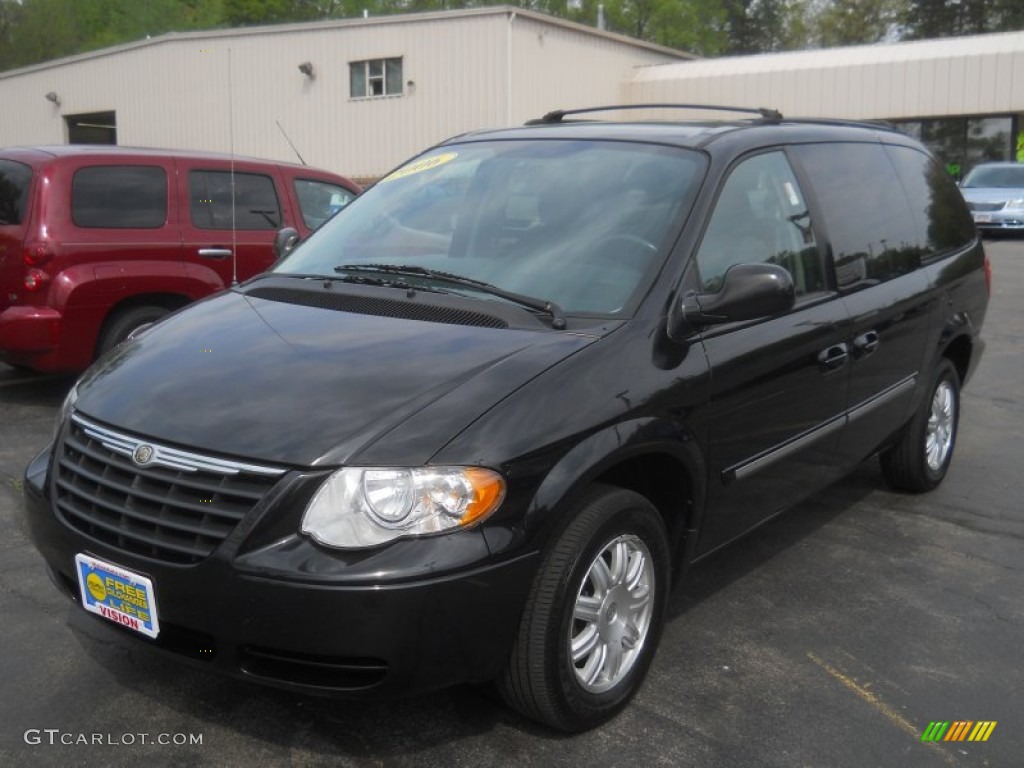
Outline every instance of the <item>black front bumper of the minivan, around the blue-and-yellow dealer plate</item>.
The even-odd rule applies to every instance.
[[[275,687],[377,696],[490,679],[507,658],[537,568],[535,555],[492,562],[478,531],[404,542],[406,555],[422,545],[433,558],[429,567],[421,561],[421,575],[394,570],[376,582],[366,567],[346,580],[341,558],[300,537],[247,554],[224,552],[231,549],[225,542],[195,565],[161,563],[93,541],[58,519],[48,499],[48,462],[49,454],[41,454],[26,472],[26,509],[32,539],[66,595],[80,601],[80,552],[142,573],[154,584],[159,637],[96,621]]]

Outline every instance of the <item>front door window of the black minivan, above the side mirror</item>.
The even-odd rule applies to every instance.
[[[751,263],[788,269],[798,297],[824,290],[811,217],[783,153],[758,155],[732,170],[696,259],[706,293],[722,289],[733,264]]]

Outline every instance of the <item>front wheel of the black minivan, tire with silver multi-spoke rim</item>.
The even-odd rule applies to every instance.
[[[660,515],[639,494],[594,485],[584,495],[577,513],[548,548],[534,582],[519,634],[497,681],[506,703],[553,728],[582,731],[613,717],[629,702],[647,673],[665,622],[667,541]],[[630,567],[615,567],[610,547],[620,556],[628,555]],[[624,579],[631,572],[635,578],[615,584],[615,570]],[[611,589],[600,595],[595,575],[605,571]],[[624,608],[627,596],[634,602]],[[593,617],[578,617],[578,605]],[[630,637],[634,633],[638,638]],[[594,642],[586,642],[591,637]],[[582,648],[594,648],[575,663],[573,639]],[[608,655],[616,652],[617,667],[611,660],[615,656]],[[584,680],[587,676],[590,683]]]

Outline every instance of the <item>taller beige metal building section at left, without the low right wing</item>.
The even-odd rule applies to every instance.
[[[510,7],[169,34],[0,74],[0,146],[296,162],[287,133],[310,165],[373,178],[455,133],[622,102],[637,67],[690,57]]]

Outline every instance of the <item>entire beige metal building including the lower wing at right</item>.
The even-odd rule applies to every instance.
[[[466,130],[666,101],[893,121],[953,173],[1024,161],[1024,32],[717,59],[504,6],[170,34],[0,73],[0,146],[294,161],[287,134],[371,179]]]

